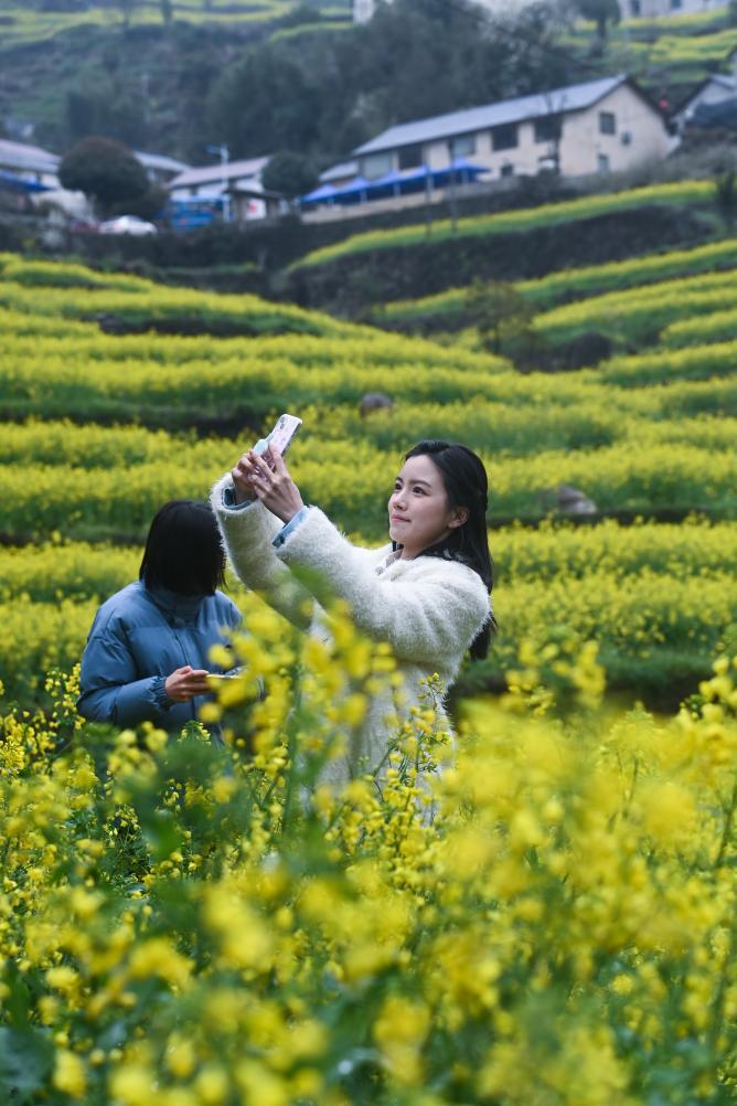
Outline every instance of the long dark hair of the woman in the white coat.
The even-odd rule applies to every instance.
[[[430,457],[438,468],[451,508],[465,507],[468,518],[462,526],[456,526],[448,538],[422,550],[422,556],[440,556],[461,561],[473,568],[484,582],[488,592],[494,586],[494,562],[488,551],[486,530],[486,508],[488,507],[488,478],[484,462],[467,446],[455,441],[429,439],[418,441],[404,460],[410,457]],[[493,615],[471,643],[471,657],[483,659],[496,633],[497,624]]]

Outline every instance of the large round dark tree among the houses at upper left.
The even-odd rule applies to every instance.
[[[148,191],[140,161],[112,138],[83,138],[62,158],[59,179],[64,188],[84,192],[101,211]]]

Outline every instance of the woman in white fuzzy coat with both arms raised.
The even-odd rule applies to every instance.
[[[347,599],[358,629],[388,641],[402,676],[402,707],[391,690],[369,706],[359,754],[331,765],[346,779],[375,770],[386,758],[402,714],[420,701],[433,672],[445,690],[461,661],[486,656],[494,619],[492,560],[486,535],[487,478],[465,446],[421,441],[404,457],[389,497],[391,543],[352,545],[317,507],[306,507],[284,459],[249,450],[213,488],[229,560],[250,588],[303,628],[315,630],[318,611],[305,615],[305,586],[291,570],[312,570]]]

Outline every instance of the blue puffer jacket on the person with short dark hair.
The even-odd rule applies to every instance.
[[[209,650],[225,641],[240,620],[222,592],[189,596],[140,581],[128,584],[95,615],[82,657],[80,713],[96,722],[150,720],[179,730],[197,718],[207,697],[173,702],[164,690],[167,676],[185,665],[221,672],[208,659]]]

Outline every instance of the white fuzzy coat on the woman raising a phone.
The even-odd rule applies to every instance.
[[[389,641],[402,676],[399,697],[387,687],[369,706],[354,759],[334,765],[330,775],[346,779],[383,761],[397,724],[420,701],[420,682],[433,672],[445,690],[455,680],[463,656],[491,615],[483,581],[457,561],[434,556],[403,560],[391,545],[378,550],[352,545],[316,507],[274,549],[282,522],[263,503],[229,509],[223,491],[230,474],[213,488],[211,503],[228,559],[246,587],[304,629],[320,634],[322,608],[305,616],[305,586],[291,566],[310,570],[336,596],[347,599],[356,626],[377,641]],[[307,583],[307,586],[309,584]],[[323,628],[324,634],[324,628]]]

